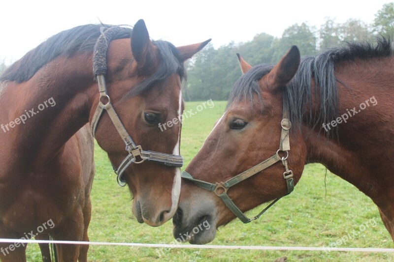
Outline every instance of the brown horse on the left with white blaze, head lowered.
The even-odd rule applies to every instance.
[[[138,221],[170,219],[180,194],[181,123],[164,132],[158,124],[182,114],[183,61],[207,42],[151,41],[142,20],[133,29],[86,25],[11,65],[0,78],[0,238],[89,240],[92,132],[129,186]],[[0,244],[0,259],[26,261],[25,249]],[[57,246],[59,261],[87,261],[87,251]]]

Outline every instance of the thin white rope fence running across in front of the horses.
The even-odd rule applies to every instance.
[[[352,248],[352,247],[275,247],[275,246],[219,246],[219,245],[186,245],[186,244],[148,244],[148,243],[115,243],[59,240],[30,240],[0,238],[0,243],[36,243],[36,244],[74,244],[101,246],[129,246],[148,248],[189,248],[189,249],[246,249],[246,250],[296,250],[296,251],[345,251],[345,252],[386,252],[394,253],[394,248]]]

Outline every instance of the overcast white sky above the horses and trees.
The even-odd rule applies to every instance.
[[[371,23],[390,0],[3,0],[0,3],[0,58],[15,61],[53,34],[90,23],[133,25],[144,19],[153,39],[176,46],[212,38],[215,47],[250,41],[266,32],[280,37],[287,27],[325,17]]]

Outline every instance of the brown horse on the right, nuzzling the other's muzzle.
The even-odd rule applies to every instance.
[[[227,110],[182,174],[174,236],[207,221],[189,239],[204,244],[236,216],[257,219],[243,212],[289,194],[317,162],[370,197],[394,239],[393,54],[379,39],[302,59],[294,46],[275,66],[239,57]]]

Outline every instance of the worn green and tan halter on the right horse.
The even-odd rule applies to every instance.
[[[193,178],[192,175],[190,175],[187,172],[182,172],[181,176],[182,178],[188,179],[190,181],[193,181],[197,186],[202,187],[204,189],[207,189],[209,191],[214,192],[218,197],[220,197],[223,202],[227,205],[227,207],[230,208],[230,210],[243,222],[243,223],[249,223],[253,220],[258,219],[269,207],[271,207],[273,204],[275,204],[279,199],[282,197],[279,197],[275,199],[271,204],[269,204],[267,207],[263,209],[257,216],[253,218],[248,218],[235,204],[232,202],[230,199],[229,195],[227,195],[227,191],[231,186],[234,186],[238,184],[239,182],[251,177],[252,175],[256,175],[263,171],[264,169],[272,166],[273,164],[282,161],[282,164],[285,168],[285,172],[283,173],[283,177],[286,180],[286,185],[287,185],[287,193],[284,195],[288,195],[294,190],[294,181],[293,181],[293,172],[289,170],[287,166],[287,158],[289,157],[289,151],[290,151],[290,140],[289,140],[289,130],[291,128],[292,124],[289,120],[289,112],[287,109],[287,105],[284,102],[283,103],[283,119],[281,121],[281,127],[282,127],[282,132],[281,132],[281,138],[280,138],[280,145],[278,151],[276,151],[276,154],[271,156],[270,158],[264,160],[260,164],[257,164],[256,166],[242,172],[239,175],[236,175],[226,182],[220,182],[220,183],[209,183],[206,181],[198,180]],[[279,152],[286,152],[286,157],[280,157]]]

